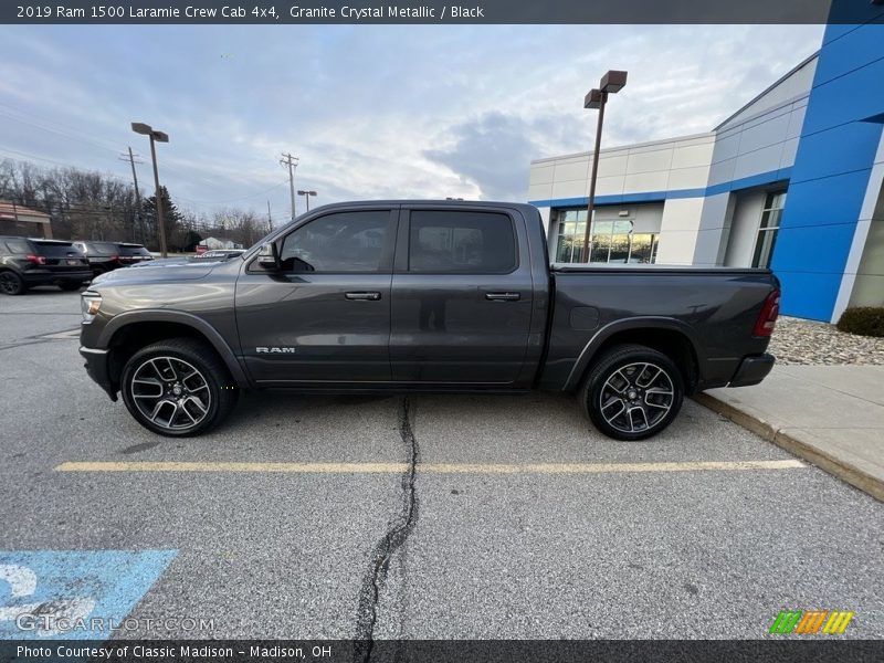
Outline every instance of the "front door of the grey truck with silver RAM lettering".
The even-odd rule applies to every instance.
[[[236,283],[242,357],[263,385],[390,380],[398,210],[329,211],[277,239],[281,271],[253,259]]]

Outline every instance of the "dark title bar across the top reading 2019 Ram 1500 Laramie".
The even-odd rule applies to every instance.
[[[461,11],[454,11],[455,8]],[[149,10],[159,10],[160,14],[151,17]],[[10,24],[822,24],[828,22],[853,24],[866,23],[870,20],[881,22],[883,14],[882,0],[391,0],[389,2],[382,0],[2,0],[0,2],[0,23]]]

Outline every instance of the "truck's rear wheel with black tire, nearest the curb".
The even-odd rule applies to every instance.
[[[614,440],[656,435],[672,423],[683,400],[678,367],[666,355],[641,345],[615,346],[604,352],[580,389],[589,420]]]

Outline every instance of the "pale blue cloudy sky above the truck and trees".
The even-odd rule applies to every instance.
[[[316,202],[525,200],[534,158],[588,149],[586,92],[629,71],[603,146],[706,131],[820,44],[822,27],[0,27],[0,158],[129,180],[167,131],[180,207],[290,213],[282,151]],[[149,159],[138,167],[149,186]],[[302,210],[303,211],[303,210]]]

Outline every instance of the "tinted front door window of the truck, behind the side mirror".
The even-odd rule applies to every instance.
[[[285,238],[285,272],[377,272],[390,241],[389,210],[320,217]]]

